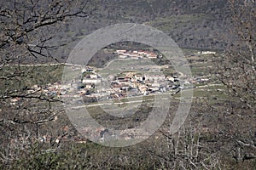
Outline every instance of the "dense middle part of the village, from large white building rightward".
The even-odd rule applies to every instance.
[[[126,72],[122,77],[108,76],[103,78],[96,73],[87,72],[82,82],[85,89],[95,89],[90,96],[109,95],[108,99],[124,98],[136,95],[147,95],[157,92],[165,92],[170,89],[178,88],[178,77],[166,77],[160,72],[154,74],[139,74],[137,72]],[[108,87],[98,88],[97,85],[109,82]],[[81,89],[81,92],[83,90]],[[85,91],[84,91],[85,92]]]

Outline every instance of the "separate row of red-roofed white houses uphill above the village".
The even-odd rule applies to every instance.
[[[160,58],[161,55],[154,54],[153,52],[148,51],[126,51],[125,49],[119,49],[115,51],[116,54],[118,54],[120,59],[157,59]]]

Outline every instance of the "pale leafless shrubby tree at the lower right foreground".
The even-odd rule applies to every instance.
[[[164,169],[221,169],[220,150],[216,150],[217,129],[209,126],[209,120],[201,108],[194,104],[192,113],[177,133],[169,131],[172,116],[160,129],[160,141],[149,152],[159,160]],[[192,116],[193,115],[193,116]],[[171,121],[171,122],[170,122]],[[213,120],[212,120],[213,121]],[[211,145],[212,144],[212,145]]]

